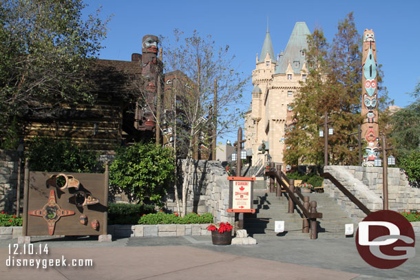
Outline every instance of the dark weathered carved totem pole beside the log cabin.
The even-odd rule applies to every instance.
[[[158,83],[158,37],[146,35],[142,43],[142,74],[144,78],[144,102],[143,114],[138,116],[139,125],[143,129],[153,130],[155,128],[154,112],[156,111],[156,89]]]

